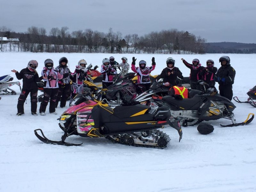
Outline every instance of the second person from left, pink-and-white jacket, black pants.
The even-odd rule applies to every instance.
[[[45,115],[45,110],[50,100],[49,112],[50,114],[57,114],[55,107],[59,90],[58,81],[66,78],[69,74],[65,73],[61,75],[58,71],[54,70],[53,61],[51,59],[45,60],[44,66],[41,73],[44,79],[44,98],[41,102],[39,113],[40,115]]]

